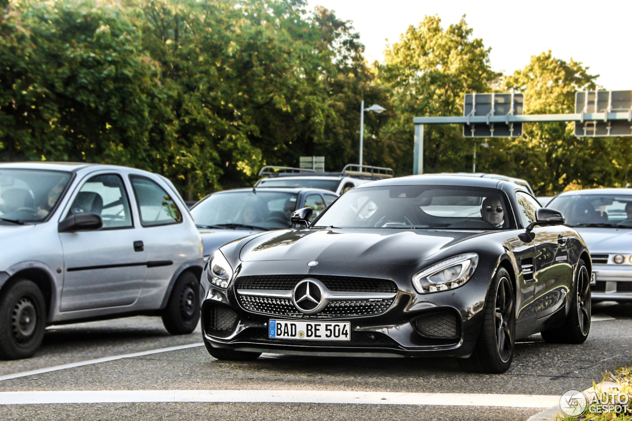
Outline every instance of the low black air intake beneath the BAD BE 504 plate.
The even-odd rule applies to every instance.
[[[240,342],[240,341],[261,341],[267,343],[292,343],[293,345],[306,345],[306,346],[324,346],[324,341],[310,341],[306,339],[270,339],[268,338],[267,329],[258,329],[256,327],[251,327],[250,329],[246,329],[241,333],[236,339],[233,339],[231,342]],[[351,332],[351,340],[349,341],[332,341],[327,342],[326,346],[332,346],[332,343],[335,343],[337,346],[389,346],[395,347],[399,346],[399,344],[394,340],[389,338],[389,336],[380,333],[380,332]]]

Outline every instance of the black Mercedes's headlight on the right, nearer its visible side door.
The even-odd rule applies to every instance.
[[[459,254],[413,276],[413,286],[420,294],[454,290],[470,280],[477,265],[477,253]]]

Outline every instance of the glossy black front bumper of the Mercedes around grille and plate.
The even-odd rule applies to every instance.
[[[307,267],[307,262],[303,263]],[[242,267],[238,277],[248,274],[275,273],[260,271],[257,264]],[[319,264],[323,276],[327,276],[325,265]],[[269,269],[269,268],[268,268]],[[367,269],[366,267],[364,269]],[[288,269],[291,271],[292,269]],[[202,301],[202,334],[207,345],[215,348],[229,348],[240,351],[282,353],[315,356],[363,356],[363,357],[467,357],[473,351],[478,338],[482,309],[489,288],[492,270],[478,267],[468,283],[455,290],[441,291],[427,295],[418,295],[412,288],[410,279],[396,279],[387,276],[375,268],[375,277],[392,279],[398,290],[392,304],[386,311],[377,315],[328,317],[316,322],[350,322],[350,341],[311,341],[305,339],[270,339],[267,336],[267,324],[270,319],[305,320],[278,314],[261,314],[246,310],[240,302],[235,281],[228,290],[212,286],[202,276],[200,299]],[[296,272],[296,271],[294,271]],[[354,276],[349,271],[344,275]],[[380,273],[382,272],[382,273]],[[407,271],[399,271],[399,273]],[[278,273],[278,268],[276,273]],[[291,273],[291,272],[290,272]],[[392,271],[391,273],[398,273]],[[331,272],[330,272],[331,274]],[[319,278],[319,274],[310,271],[305,277]],[[337,272],[340,276],[340,272]],[[238,278],[239,279],[239,278]],[[217,309],[220,310],[217,310]],[[228,310],[236,314],[229,329],[218,331],[217,314]],[[219,313],[218,313],[219,311]],[[428,337],[418,320],[424,323],[435,320],[435,315],[453,317],[458,324],[458,334],[453,338]],[[312,321],[310,319],[310,321]],[[220,322],[221,324],[221,322]],[[413,324],[415,326],[413,326]],[[226,324],[224,324],[224,327]]]

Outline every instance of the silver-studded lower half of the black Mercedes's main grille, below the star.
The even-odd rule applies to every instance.
[[[240,304],[250,312],[269,314],[295,319],[332,319],[334,317],[362,317],[378,315],[388,310],[395,298],[371,298],[368,300],[336,300],[327,304],[322,312],[303,314],[288,298],[238,295]]]

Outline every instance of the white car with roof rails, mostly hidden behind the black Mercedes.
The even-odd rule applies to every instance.
[[[392,173],[390,168],[366,165],[360,168],[357,164],[346,165],[340,173],[316,173],[312,169],[267,166],[259,172],[259,176],[266,177],[257,181],[255,187],[321,188],[341,195],[368,181],[391,178]]]

